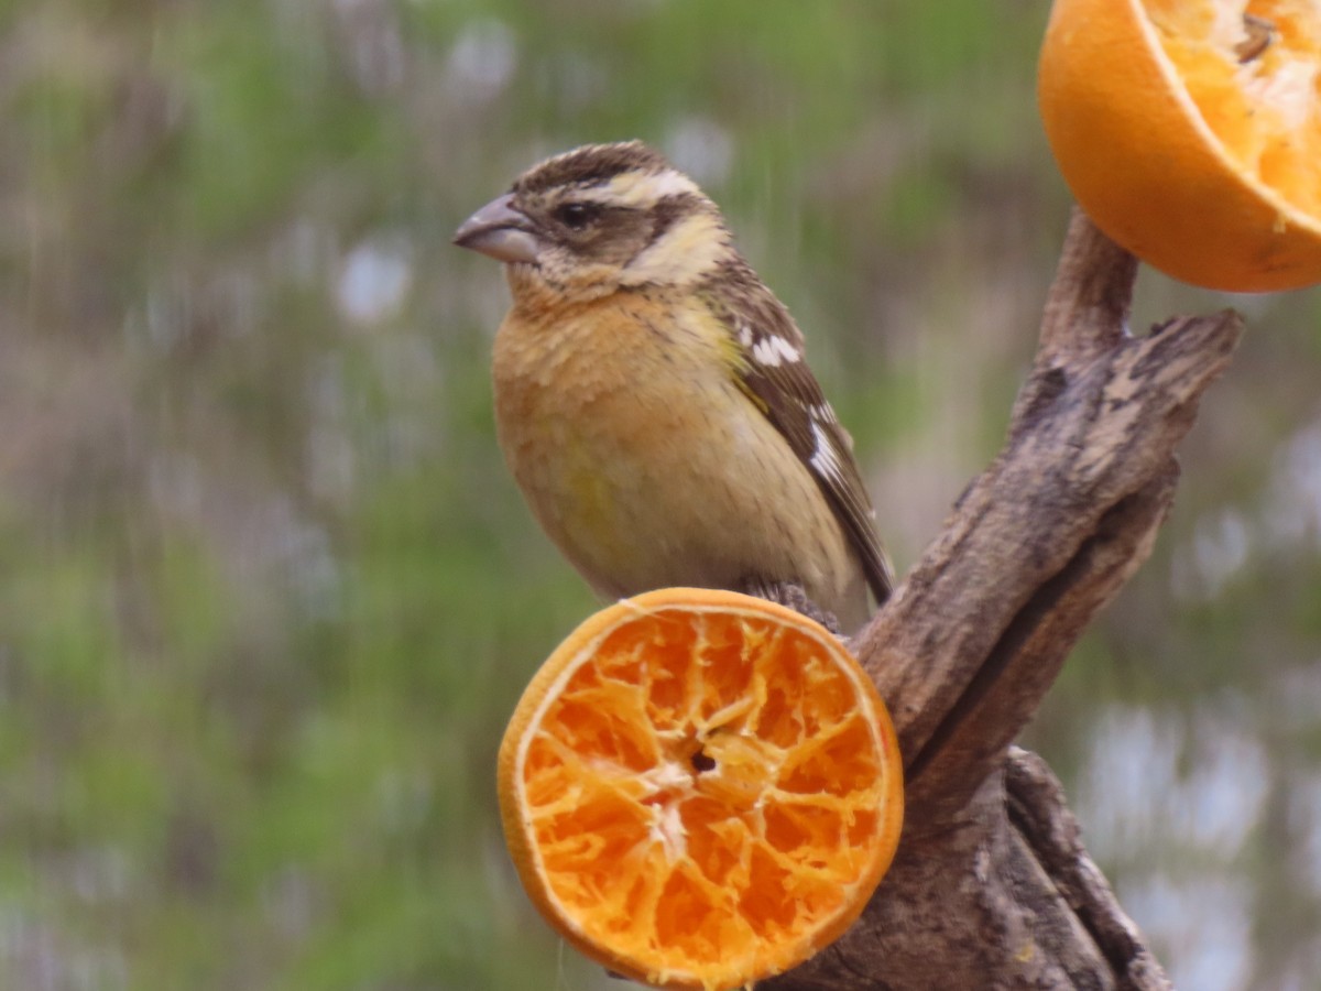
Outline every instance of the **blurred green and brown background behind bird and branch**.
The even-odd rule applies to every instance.
[[[0,3],[0,987],[609,988],[494,753],[596,603],[506,476],[453,229],[643,137],[728,213],[902,568],[1069,211],[1044,0]],[[1029,743],[1186,988],[1321,987],[1321,296],[1250,333]]]

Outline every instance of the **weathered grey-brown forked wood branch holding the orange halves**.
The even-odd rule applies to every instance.
[[[1058,784],[1012,748],[1149,554],[1242,330],[1225,312],[1131,336],[1135,272],[1074,215],[1004,451],[853,645],[908,768],[894,865],[857,925],[761,991],[1169,987]]]

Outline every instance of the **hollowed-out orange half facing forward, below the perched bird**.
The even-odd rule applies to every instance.
[[[499,801],[532,902],[666,987],[777,974],[859,916],[898,843],[889,716],[826,629],[675,588],[587,620],[523,694]]]

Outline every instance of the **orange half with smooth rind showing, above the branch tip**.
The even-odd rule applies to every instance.
[[[1314,0],[1055,0],[1037,78],[1083,210],[1168,275],[1321,281]]]

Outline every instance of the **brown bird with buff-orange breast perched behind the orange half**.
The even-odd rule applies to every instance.
[[[845,632],[868,589],[885,601],[875,510],[803,334],[660,152],[547,159],[454,243],[503,263],[497,439],[597,593],[798,587]]]

